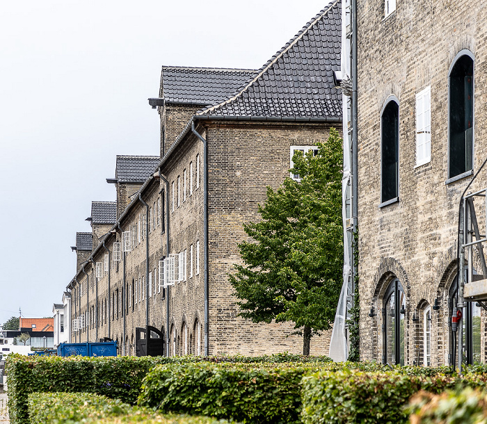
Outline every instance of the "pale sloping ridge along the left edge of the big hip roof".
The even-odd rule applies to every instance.
[[[332,10],[332,8],[337,3],[339,3],[340,1],[341,0],[333,0],[330,3],[328,3],[328,6],[323,8],[316,16],[314,16],[314,18],[312,18],[307,24],[305,24],[305,26],[303,26],[303,28],[301,28],[301,30],[296,35],[294,35],[294,38],[289,40],[285,44],[285,46],[282,47],[282,49],[278,50],[277,53],[274,54],[274,56],[272,56],[272,58],[270,60],[268,60],[267,63],[264,64],[264,66],[262,66],[260,68],[260,70],[257,70],[257,72],[255,72],[255,76],[253,77],[253,79],[248,81],[246,83],[246,85],[244,85],[242,88],[237,90],[237,92],[235,92],[235,94],[232,95],[232,97],[229,97],[228,99],[221,101],[218,104],[214,104],[211,106],[207,106],[206,108],[202,108],[195,115],[198,115],[198,116],[205,115],[211,111],[214,111],[216,108],[219,108],[221,106],[225,106],[226,104],[231,103],[232,101],[234,101],[235,99],[240,97],[244,92],[246,92],[248,90],[248,88],[250,88],[251,85],[253,85],[253,83],[255,83],[255,81],[257,81],[264,74],[264,72],[266,72],[266,70],[269,70],[269,68],[274,63],[276,63],[277,60],[280,57],[282,57],[282,55],[285,54],[286,51],[291,49],[294,46],[294,44],[296,44],[298,42],[298,40],[301,40],[301,38],[303,38],[303,35],[305,35],[305,33],[307,33],[310,30],[310,28],[312,28],[312,26],[314,26],[314,24],[316,24],[320,19],[322,19],[326,14],[328,14],[330,12],[330,10]]]

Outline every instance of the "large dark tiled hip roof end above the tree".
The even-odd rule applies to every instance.
[[[197,115],[245,117],[342,117],[340,0],[314,17],[237,94]]]

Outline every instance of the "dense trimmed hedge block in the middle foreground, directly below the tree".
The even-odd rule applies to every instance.
[[[159,365],[145,377],[138,405],[243,423],[298,423],[301,378],[317,369],[296,364]]]

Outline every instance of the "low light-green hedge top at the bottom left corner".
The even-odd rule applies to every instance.
[[[138,408],[93,393],[31,393],[31,424],[46,423],[223,423],[213,418],[161,416],[150,409]],[[227,423],[227,421],[224,421]]]

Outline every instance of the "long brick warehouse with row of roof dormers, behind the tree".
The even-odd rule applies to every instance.
[[[237,316],[227,274],[266,187],[289,176],[296,149],[341,126],[340,32],[335,1],[260,70],[162,68],[150,99],[161,158],[117,157],[107,179],[116,220],[96,234],[92,207],[93,251],[68,285],[72,341],[107,337],[121,354],[141,354],[150,326],[169,355],[302,352],[291,323]],[[328,339],[314,338],[312,353],[328,354]]]

